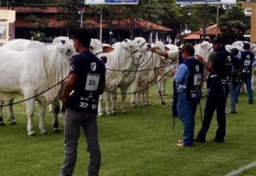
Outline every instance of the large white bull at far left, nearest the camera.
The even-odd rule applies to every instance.
[[[69,40],[68,38],[66,38]],[[0,49],[0,98],[10,100],[16,94],[22,94],[24,99],[50,88],[57,82],[66,78],[70,58],[75,53],[73,43],[68,41],[55,41],[49,49],[41,42],[31,42],[25,51]],[[28,118],[28,135],[34,134],[32,117],[34,115],[34,101],[38,101],[39,129],[45,134],[43,118],[46,104],[59,97],[62,85],[36,98],[27,100],[26,114]]]

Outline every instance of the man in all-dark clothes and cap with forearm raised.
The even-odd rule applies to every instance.
[[[198,132],[194,142],[205,142],[206,133],[210,128],[210,122],[214,115],[214,110],[217,112],[218,130],[215,134],[215,142],[224,142],[226,135],[226,99],[229,94],[229,80],[232,73],[232,68],[238,67],[235,63],[234,55],[230,54],[225,49],[223,38],[214,38],[213,49],[215,54],[211,66],[207,64],[203,58],[198,57],[198,61],[210,71],[207,82],[210,86],[210,91],[206,99],[206,107],[204,110],[204,118],[202,127]],[[238,69],[239,71],[239,69]]]

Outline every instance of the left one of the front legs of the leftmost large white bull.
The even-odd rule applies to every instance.
[[[29,98],[30,96],[24,96],[24,98]],[[34,98],[27,100],[26,104],[26,116],[27,116],[27,135],[34,135],[34,130],[32,126],[32,118],[34,116]]]

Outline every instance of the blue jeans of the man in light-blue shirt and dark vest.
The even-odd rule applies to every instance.
[[[186,100],[186,93],[178,94],[178,118],[183,126],[183,146],[193,146],[194,144],[194,114],[197,110],[198,100]]]

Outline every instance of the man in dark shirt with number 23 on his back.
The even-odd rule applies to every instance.
[[[90,53],[90,33],[78,30],[74,36],[74,48],[79,53],[70,62],[70,74],[65,83],[62,103],[66,107],[64,117],[65,155],[61,176],[72,175],[77,159],[78,138],[82,127],[90,153],[88,175],[98,175],[101,152],[98,146],[97,111],[98,98],[105,89],[106,68],[102,61]]]

